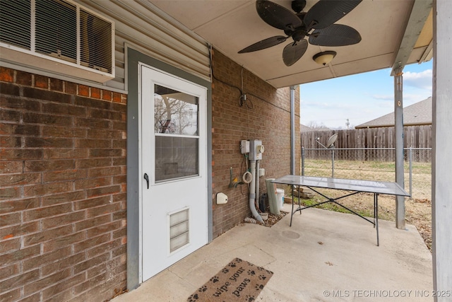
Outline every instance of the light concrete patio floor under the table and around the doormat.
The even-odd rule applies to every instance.
[[[308,209],[289,223],[242,223],[112,301],[186,301],[234,257],[274,273],[256,301],[433,301],[432,254],[415,226],[379,220],[376,246],[352,214]]]

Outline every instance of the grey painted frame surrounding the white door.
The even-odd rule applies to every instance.
[[[141,175],[138,156],[140,114],[139,111],[139,83],[140,64],[152,66],[155,69],[172,74],[186,81],[196,83],[207,89],[207,211],[208,211],[208,242],[213,240],[213,219],[212,219],[212,83],[189,74],[182,69],[169,65],[160,60],[149,57],[143,52],[134,50],[126,45],[126,86],[127,95],[127,289],[135,289],[141,284],[141,233],[140,233],[140,184]],[[201,158],[200,158],[201,160]]]

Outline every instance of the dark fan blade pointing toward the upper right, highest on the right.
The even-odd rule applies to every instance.
[[[304,16],[304,24],[308,31],[311,28],[320,29],[335,23],[350,13],[362,0],[320,0],[309,9]]]

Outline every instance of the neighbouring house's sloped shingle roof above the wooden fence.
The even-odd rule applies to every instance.
[[[394,112],[391,112],[382,117],[378,117],[375,120],[365,122],[355,126],[355,129],[359,128],[376,128],[376,127],[393,127]],[[415,126],[432,124],[432,97],[421,100],[410,106],[403,108],[403,125]]]

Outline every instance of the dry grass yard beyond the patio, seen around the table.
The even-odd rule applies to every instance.
[[[334,177],[357,180],[381,180],[394,181],[396,178],[395,164],[377,161],[335,161]],[[409,165],[405,164],[405,190],[410,192]],[[331,177],[331,160],[307,160],[304,165],[304,175]],[[287,187],[289,195],[290,187]],[[339,197],[344,192],[323,189],[326,196]],[[315,194],[313,199],[302,199],[302,203],[309,206],[316,202],[322,202],[323,197]],[[370,193],[359,193],[340,199],[345,207],[356,211],[363,216],[374,216],[374,195]],[[347,213],[346,209],[332,203],[319,206],[321,209],[341,211]],[[379,195],[379,219],[396,221],[396,197],[390,195]],[[416,226],[424,239],[425,245],[432,250],[432,164],[412,163],[412,199],[405,198],[405,220],[406,223]]]

